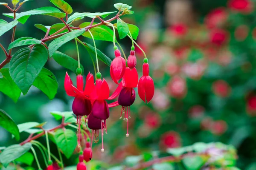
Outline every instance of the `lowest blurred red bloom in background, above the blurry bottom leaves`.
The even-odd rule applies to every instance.
[[[163,133],[161,143],[167,148],[180,147],[180,135],[175,131]]]

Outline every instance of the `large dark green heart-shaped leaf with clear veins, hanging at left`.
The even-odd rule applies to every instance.
[[[41,44],[32,48],[22,48],[13,55],[9,72],[24,95],[29,91],[47,59],[48,51]]]

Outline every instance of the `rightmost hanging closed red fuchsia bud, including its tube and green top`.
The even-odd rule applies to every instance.
[[[140,77],[138,83],[138,94],[140,96],[140,99],[142,99],[146,103],[150,102],[150,100],[154,96],[154,81],[149,76],[148,59],[144,59],[142,72],[143,76]]]

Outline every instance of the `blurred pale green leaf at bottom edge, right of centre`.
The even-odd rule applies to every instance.
[[[201,170],[204,160],[200,156],[186,156],[182,162],[187,170]]]

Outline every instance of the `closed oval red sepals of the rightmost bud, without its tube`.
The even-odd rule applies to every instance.
[[[154,96],[154,81],[150,76],[143,76],[138,83],[138,94],[145,103]]]

